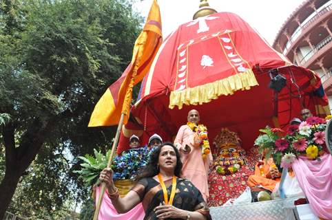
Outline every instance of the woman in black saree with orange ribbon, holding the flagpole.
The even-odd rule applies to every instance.
[[[125,197],[118,195],[112,169],[105,168],[100,179],[106,183],[107,195],[119,213],[143,201],[144,219],[211,219],[199,190],[189,180],[180,178],[181,168],[178,150],[165,142],[152,153],[137,184]]]

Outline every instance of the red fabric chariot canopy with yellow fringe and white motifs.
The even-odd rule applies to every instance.
[[[278,95],[268,88],[268,71],[275,68],[287,78]],[[143,144],[153,133],[172,141],[187,122],[188,111],[197,109],[210,143],[228,127],[248,149],[259,129],[288,124],[300,116],[302,105],[325,115],[329,107],[321,86],[317,74],[290,65],[236,14],[211,14],[180,25],[165,39],[143,80],[127,128],[135,124],[143,130]],[[125,136],[121,135],[118,153],[128,148]]]

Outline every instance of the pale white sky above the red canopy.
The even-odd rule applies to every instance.
[[[271,45],[291,13],[304,0],[209,0],[218,12],[234,12],[255,28]],[[158,0],[163,23],[164,38],[178,25],[192,20],[200,0]],[[135,8],[147,17],[152,0],[136,3]]]

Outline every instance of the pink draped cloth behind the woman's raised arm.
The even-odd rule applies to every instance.
[[[96,201],[98,201],[100,192],[101,186],[96,187]],[[132,210],[129,210],[129,212],[118,214],[112,205],[111,199],[107,197],[105,192],[98,220],[141,220],[144,219],[144,216],[145,212],[142,203],[138,203],[138,205],[132,208]]]

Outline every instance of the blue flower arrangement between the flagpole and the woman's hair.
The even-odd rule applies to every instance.
[[[136,179],[139,171],[149,162],[149,157],[154,149],[149,151],[147,147],[136,148],[117,155],[112,162],[113,179]]]

